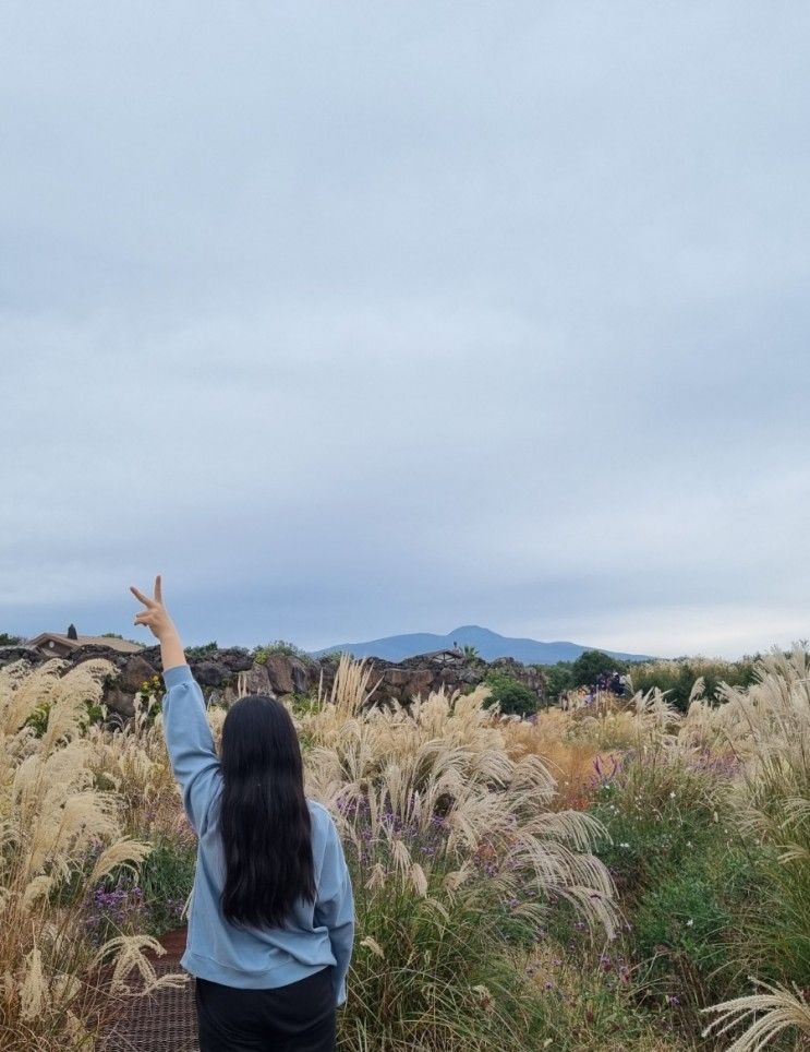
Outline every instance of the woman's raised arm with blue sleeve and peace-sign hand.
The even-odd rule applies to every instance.
[[[183,796],[183,806],[197,835],[203,832],[208,805],[220,777],[219,757],[214,744],[205,698],[185,660],[174,623],[162,601],[160,576],[155,578],[155,597],[147,598],[137,588],[131,591],[146,606],[135,617],[160,642],[164,666],[164,737],[171,769]]]

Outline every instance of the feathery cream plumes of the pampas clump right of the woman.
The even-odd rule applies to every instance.
[[[341,664],[333,688],[338,701],[302,719],[315,742],[307,753],[310,789],[334,808],[355,846],[360,833],[346,816],[349,802],[368,804],[374,837],[389,832],[383,812],[418,836],[438,816],[446,829],[443,858],[461,862],[486,845],[507,896],[521,885],[540,901],[567,898],[594,930],[613,933],[613,884],[590,853],[602,826],[551,806],[556,782],[539,756],[509,756],[497,707],[483,707],[488,689],[442,690],[386,709],[365,708],[364,689],[364,678]]]

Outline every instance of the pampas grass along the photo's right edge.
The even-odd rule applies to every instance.
[[[709,1011],[721,1014],[706,1028],[717,1033],[749,1021],[730,1047],[733,1052],[761,1049],[778,1033],[797,1027],[810,1033],[810,1011],[797,983],[810,985],[810,654],[795,644],[754,664],[754,682],[746,690],[722,684],[723,704],[693,698],[685,724],[690,741],[730,752],[740,777],[732,801],[743,836],[761,845],[759,863],[772,909],[746,932],[752,966],[785,982],[754,980],[765,990],[734,999]],[[763,1013],[763,1015],[758,1014]]]

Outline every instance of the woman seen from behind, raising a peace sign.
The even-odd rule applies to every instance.
[[[164,733],[197,865],[181,964],[196,977],[201,1052],[331,1052],[354,936],[349,871],[329,812],[304,796],[290,714],[235,702],[217,756],[205,702],[155,578],[135,624],[160,642]]]

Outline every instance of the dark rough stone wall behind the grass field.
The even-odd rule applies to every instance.
[[[105,684],[105,704],[112,712],[131,716],[134,696],[145,682],[160,676],[160,647],[147,647],[138,654],[121,654],[109,647],[92,645],[77,647],[63,660],[68,667],[80,665],[89,658],[105,658],[116,669]],[[0,647],[0,667],[10,661],[24,659],[32,667],[47,661],[48,655],[24,646]],[[294,655],[271,654],[264,662],[254,660],[242,647],[229,647],[206,651],[195,658],[193,649],[189,664],[206,696],[229,704],[241,694],[271,694],[283,697],[292,694],[315,694],[321,690],[328,694],[335,682],[338,657],[301,658]],[[378,704],[390,698],[407,704],[413,696],[426,696],[440,688],[450,693],[469,691],[493,671],[504,672],[544,696],[543,673],[533,666],[521,665],[512,658],[495,661],[469,659],[461,651],[438,650],[406,658],[403,661],[386,661],[366,658],[365,668],[371,670],[368,691],[371,701]]]

